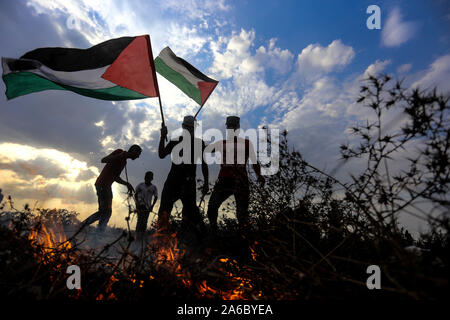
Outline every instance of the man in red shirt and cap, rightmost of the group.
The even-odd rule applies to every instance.
[[[264,183],[261,167],[257,163],[253,146],[248,139],[239,137],[240,118],[227,117],[227,139],[213,143],[209,150],[220,152],[222,161],[219,177],[211,193],[208,203],[208,219],[213,230],[217,230],[218,210],[222,202],[234,195],[236,200],[236,216],[241,227],[248,224],[248,203],[250,188],[247,175],[247,162],[250,158],[258,182]]]

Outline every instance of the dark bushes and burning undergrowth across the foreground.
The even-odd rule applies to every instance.
[[[116,239],[100,249],[86,249],[83,239],[70,238],[74,212],[2,211],[11,221],[0,237],[2,297],[445,299],[449,99],[404,89],[389,76],[370,76],[360,92],[358,103],[373,117],[351,128],[357,143],[342,145],[341,154],[343,161],[363,160],[363,170],[341,182],[305,161],[284,132],[279,172],[264,187],[251,184],[245,228],[227,218],[218,232],[195,239],[173,220],[171,233],[151,228],[145,250],[136,250],[129,227],[112,232]],[[386,122],[392,112],[401,126]],[[420,238],[399,223],[406,214],[426,221]],[[36,240],[56,225],[69,239]],[[82,267],[81,291],[65,287],[70,264]],[[370,265],[380,267],[383,290],[367,289]]]

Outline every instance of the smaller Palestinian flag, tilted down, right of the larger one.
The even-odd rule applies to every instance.
[[[208,78],[189,62],[177,57],[165,47],[155,59],[156,71],[181,91],[203,106],[219,83]]]

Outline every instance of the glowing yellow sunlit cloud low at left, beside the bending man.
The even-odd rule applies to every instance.
[[[15,143],[0,144],[3,189],[22,204],[34,199],[41,205],[95,203],[92,185],[98,169],[56,149],[38,149]],[[14,191],[14,192],[12,192]]]

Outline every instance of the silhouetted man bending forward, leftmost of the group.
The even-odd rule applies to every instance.
[[[113,182],[117,182],[127,186],[129,193],[134,192],[133,186],[120,178],[120,173],[125,168],[127,159],[136,160],[141,155],[141,152],[142,148],[134,144],[128,151],[117,149],[102,159],[102,163],[106,163],[106,165],[103,167],[102,172],[95,182],[98,197],[98,211],[84,220],[81,228],[98,220],[98,231],[101,233],[105,230],[112,213],[113,194],[111,185]]]

